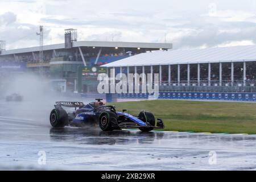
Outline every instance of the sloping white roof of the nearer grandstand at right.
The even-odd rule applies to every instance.
[[[133,67],[193,63],[228,63],[256,61],[256,46],[216,47],[204,49],[170,49],[140,53],[102,67]]]

